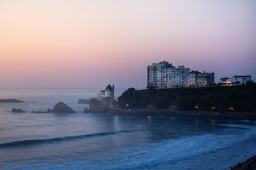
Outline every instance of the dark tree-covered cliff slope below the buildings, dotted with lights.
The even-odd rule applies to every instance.
[[[120,108],[255,112],[256,84],[159,90],[130,88],[118,97]]]

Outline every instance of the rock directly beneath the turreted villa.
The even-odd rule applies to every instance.
[[[110,109],[110,97],[104,97],[102,100],[96,98],[90,101],[90,111],[92,113],[107,113]]]

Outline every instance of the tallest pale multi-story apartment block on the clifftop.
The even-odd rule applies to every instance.
[[[148,66],[148,89],[169,89],[175,87],[186,87],[189,78],[188,67],[174,67],[172,63],[153,63]]]

